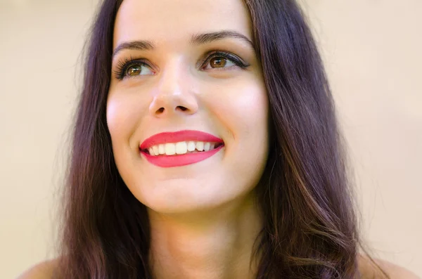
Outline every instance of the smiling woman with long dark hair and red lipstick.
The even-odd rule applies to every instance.
[[[295,1],[105,0],[90,43],[62,257],[22,278],[415,278],[358,253]]]

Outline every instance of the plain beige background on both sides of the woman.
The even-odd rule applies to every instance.
[[[94,0],[0,0],[0,278],[54,256]],[[377,257],[422,275],[422,1],[309,0]]]

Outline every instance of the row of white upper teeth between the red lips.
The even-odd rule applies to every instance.
[[[153,145],[148,148],[150,155],[175,155],[195,153],[199,151],[210,151],[215,148],[216,143],[207,143],[203,141],[181,141],[179,143],[164,143]],[[198,151],[196,151],[198,150]]]

